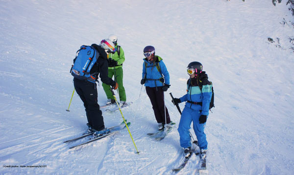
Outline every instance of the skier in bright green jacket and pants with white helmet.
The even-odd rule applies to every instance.
[[[119,95],[120,95],[120,103],[121,105],[126,105],[126,96],[125,90],[123,87],[123,62],[124,62],[124,52],[123,48],[117,44],[118,38],[116,35],[109,35],[108,39],[112,41],[115,45],[116,52],[114,54],[109,54],[108,58],[108,77],[112,78],[114,76],[115,81],[119,85]],[[102,87],[107,96],[107,103],[114,104],[115,100],[110,90],[110,86],[102,83]]]

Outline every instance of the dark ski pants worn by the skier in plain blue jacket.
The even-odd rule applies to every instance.
[[[157,87],[157,89],[156,87],[146,87],[146,92],[151,101],[157,123],[166,124],[164,108],[166,109],[167,123],[171,123],[169,111],[164,104],[164,91],[162,87]]]

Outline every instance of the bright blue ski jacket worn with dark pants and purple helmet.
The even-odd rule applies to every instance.
[[[146,87],[162,87],[164,84],[170,85],[170,74],[161,57],[155,55],[155,62],[152,63],[149,63],[147,58],[143,60],[142,79],[146,79]],[[160,71],[156,67],[157,63]],[[162,75],[164,76],[164,83],[159,81],[159,79],[163,77]]]

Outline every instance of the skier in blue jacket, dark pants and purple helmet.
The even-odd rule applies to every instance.
[[[162,58],[155,55],[155,48],[148,45],[144,48],[144,63],[141,85],[145,84],[147,95],[151,101],[152,109],[158,130],[170,129],[171,119],[168,109],[164,104],[164,91],[167,91],[170,85],[170,74]]]

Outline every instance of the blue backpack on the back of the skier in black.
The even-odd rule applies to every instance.
[[[96,63],[98,57],[99,52],[96,49],[92,46],[82,45],[80,49],[76,51],[76,57],[74,58],[74,64],[71,69],[73,77],[95,83],[95,74],[97,73],[90,74],[90,70]]]

